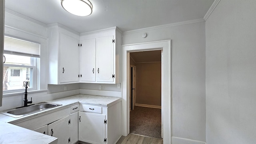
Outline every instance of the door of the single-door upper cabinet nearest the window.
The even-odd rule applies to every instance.
[[[79,47],[78,40],[60,34],[60,82],[78,82]]]

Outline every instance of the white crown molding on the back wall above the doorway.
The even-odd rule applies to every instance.
[[[141,28],[141,29],[138,29],[138,30],[129,30],[129,31],[123,32],[122,35],[133,34],[133,33],[137,33],[137,32],[145,32],[145,31],[148,31],[148,30],[155,30],[155,29],[160,29],[160,28],[168,28],[168,27],[172,27],[172,26],[180,26],[180,25],[184,25],[184,24],[193,24],[193,23],[197,23],[197,22],[205,22],[205,20],[203,18],[200,18],[200,19],[195,19],[195,20],[187,20],[187,21],[183,21],[183,22],[164,24],[164,25],[160,25],[160,26],[152,26],[152,27],[148,27],[148,28]]]

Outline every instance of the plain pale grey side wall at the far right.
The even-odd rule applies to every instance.
[[[206,142],[256,143],[256,1],[220,0],[206,20]]]

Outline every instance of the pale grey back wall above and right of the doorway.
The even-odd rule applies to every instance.
[[[123,44],[167,39],[172,40],[172,136],[205,142],[205,22],[125,32]]]

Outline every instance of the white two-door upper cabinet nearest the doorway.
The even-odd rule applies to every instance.
[[[120,83],[121,37],[116,27],[81,34],[80,82]]]

